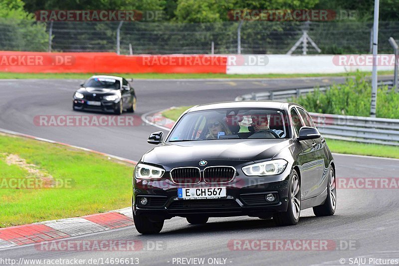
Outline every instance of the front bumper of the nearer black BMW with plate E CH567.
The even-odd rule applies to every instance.
[[[146,215],[153,220],[172,217],[190,217],[204,215],[208,217],[250,216],[268,217],[276,212],[285,212],[288,208],[289,173],[269,177],[247,177],[237,173],[228,184],[206,184],[200,182],[190,185],[194,188],[226,187],[226,198],[182,200],[178,198],[177,185],[171,180],[146,181],[134,179],[132,207],[135,215]],[[276,199],[267,202],[265,195],[274,194]],[[146,197],[148,203],[143,206],[140,198]]]

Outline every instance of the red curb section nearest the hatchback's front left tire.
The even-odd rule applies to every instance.
[[[109,229],[133,225],[133,220],[130,217],[115,212],[88,215],[82,218]]]

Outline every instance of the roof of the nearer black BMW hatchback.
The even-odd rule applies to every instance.
[[[188,112],[222,109],[222,108],[272,108],[288,110],[289,106],[295,105],[300,106],[293,102],[284,101],[229,101],[229,102],[217,102],[209,104],[196,105],[188,110]]]

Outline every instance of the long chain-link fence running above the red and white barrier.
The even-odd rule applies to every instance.
[[[226,21],[27,22],[0,20],[2,50],[117,52],[121,54],[285,54],[306,34],[321,54],[370,53],[372,22]],[[240,30],[239,30],[240,28]],[[238,32],[240,32],[238,34]],[[50,34],[50,37],[49,37]],[[238,37],[240,36],[240,38]],[[389,37],[399,39],[399,22],[380,22],[379,53],[392,53]],[[240,41],[239,41],[240,39]],[[293,54],[303,53],[299,43]],[[131,47],[131,49],[130,49]],[[307,43],[307,54],[319,53]]]

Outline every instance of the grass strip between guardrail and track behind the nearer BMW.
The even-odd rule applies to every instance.
[[[172,120],[179,118],[179,116],[191,106],[180,106],[174,109],[163,112],[162,114]],[[332,152],[345,153],[345,154],[356,154],[356,155],[368,155],[388,158],[399,159],[399,147],[380,145],[380,144],[369,144],[359,143],[352,141],[334,140],[327,139],[327,145]]]

